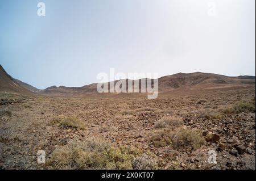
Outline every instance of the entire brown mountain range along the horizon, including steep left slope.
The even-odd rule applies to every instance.
[[[18,79],[12,78],[0,65],[0,91],[11,91],[20,93],[36,92],[42,95],[62,95],[62,96],[80,96],[85,94],[97,93],[97,83],[82,87],[65,87],[65,86],[51,86],[44,90],[36,89],[35,87],[28,85]],[[139,86],[134,86],[134,81],[130,79],[122,79],[122,81],[128,85],[128,82],[133,83],[135,90],[141,90],[142,86],[146,86],[143,83],[147,79],[139,79]],[[150,79],[151,80],[151,79]],[[151,80],[152,81],[152,80]],[[117,83],[118,81],[114,81]],[[112,82],[113,83],[113,82]],[[114,87],[110,86],[108,82],[109,90],[113,90]],[[255,86],[254,76],[238,76],[228,77],[225,75],[218,75],[212,73],[177,73],[174,75],[167,75],[158,79],[159,92],[166,92],[172,90],[202,90],[202,89],[217,89],[224,87],[241,87],[241,86]]]

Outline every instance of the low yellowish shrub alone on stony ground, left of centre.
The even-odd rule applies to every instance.
[[[84,122],[76,117],[56,116],[53,117],[51,123],[63,125],[64,127],[85,129]]]

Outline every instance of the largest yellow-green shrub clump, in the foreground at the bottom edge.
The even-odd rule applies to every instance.
[[[95,140],[71,140],[56,149],[48,160],[49,169],[133,169],[135,152]]]

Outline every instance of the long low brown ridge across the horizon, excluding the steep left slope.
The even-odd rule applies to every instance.
[[[133,81],[130,79],[121,80],[126,82]],[[115,81],[117,83],[118,81]],[[109,90],[114,89],[110,86],[108,82]],[[219,89],[228,87],[243,87],[243,86],[254,86],[255,77],[254,76],[238,76],[238,77],[228,77],[225,75],[210,74],[210,73],[178,73],[174,75],[164,76],[158,79],[159,92],[166,92],[172,90],[181,89],[191,89],[191,90],[201,90],[201,89]],[[134,86],[134,81],[133,81]],[[143,81],[139,80],[139,86],[134,87],[141,91],[141,86],[144,85]],[[126,89],[127,90],[127,89]],[[86,85],[82,87],[65,87],[65,86],[52,86],[45,90],[41,90],[40,94],[44,95],[84,95],[97,93],[97,83],[91,85]]]

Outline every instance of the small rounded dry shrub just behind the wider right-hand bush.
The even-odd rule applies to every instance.
[[[155,124],[155,128],[177,128],[183,124],[181,117],[164,116]]]

